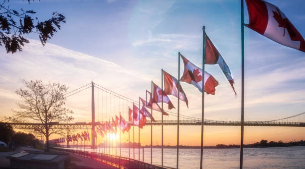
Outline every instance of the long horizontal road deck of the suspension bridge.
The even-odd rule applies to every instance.
[[[95,125],[99,126],[104,121],[96,122]],[[106,121],[105,121],[106,123]],[[42,125],[41,123],[13,123],[5,122],[5,124],[12,125],[16,129],[24,129],[31,125]],[[155,122],[148,121],[146,125],[162,125],[160,120]],[[77,122],[77,123],[57,123],[53,122],[51,125],[62,129],[91,129],[91,123]],[[177,125],[177,120],[164,120],[163,125]],[[201,125],[201,120],[180,120],[179,125]],[[240,121],[217,121],[205,120],[204,125],[218,125],[218,126],[240,126]],[[245,121],[245,126],[276,126],[276,127],[305,127],[305,122],[277,122],[277,121]]]

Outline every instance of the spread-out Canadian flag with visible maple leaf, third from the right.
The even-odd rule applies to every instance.
[[[182,82],[193,84],[196,86],[200,92],[202,92],[202,69],[188,61],[184,56],[182,56],[184,63],[184,72],[180,79]],[[204,91],[207,94],[215,94],[215,87],[218,82],[214,79],[212,75],[204,71]]]

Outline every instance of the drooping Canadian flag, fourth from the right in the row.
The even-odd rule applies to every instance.
[[[163,70],[163,79],[164,79],[164,93],[167,95],[172,95],[178,98],[178,80]],[[186,106],[188,107],[188,101],[186,98],[185,93],[183,92],[183,89],[180,86],[180,92],[179,92],[179,99],[184,101],[186,103]]]

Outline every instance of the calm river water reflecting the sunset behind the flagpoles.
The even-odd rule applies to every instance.
[[[88,150],[88,149],[86,149]],[[89,149],[89,151],[92,151]],[[104,152],[104,148],[95,149]],[[110,149],[110,154],[112,154]],[[121,155],[128,157],[128,148],[121,149]],[[135,149],[138,160],[139,149]],[[140,150],[140,160],[143,160],[143,150]],[[176,149],[163,149],[163,165],[176,167]],[[203,149],[204,169],[239,169],[240,149]],[[109,149],[108,149],[109,153]],[[114,149],[115,155],[115,149]],[[117,148],[117,155],[120,149]],[[133,158],[133,149],[130,157]],[[151,163],[151,149],[144,149],[144,161]],[[152,149],[152,163],[161,165],[161,149]],[[246,148],[244,149],[243,169],[305,169],[305,146]],[[200,149],[179,149],[179,169],[199,169]]]

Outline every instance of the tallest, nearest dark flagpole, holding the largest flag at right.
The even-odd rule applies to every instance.
[[[242,98],[241,98],[241,134],[240,134],[240,164],[239,168],[243,169],[243,153],[244,153],[244,101],[245,101],[245,50],[244,50],[244,0],[240,0],[241,12],[241,63],[242,63]]]

